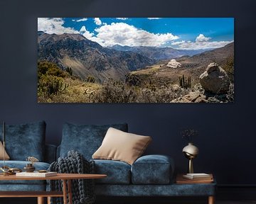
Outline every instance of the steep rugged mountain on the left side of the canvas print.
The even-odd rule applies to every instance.
[[[155,61],[135,52],[122,52],[102,47],[80,34],[47,34],[38,31],[38,60],[70,67],[82,79],[93,76],[103,82],[109,78],[124,79],[131,71]]]

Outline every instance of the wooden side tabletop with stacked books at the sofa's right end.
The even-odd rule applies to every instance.
[[[213,183],[213,174],[178,174],[176,183]]]

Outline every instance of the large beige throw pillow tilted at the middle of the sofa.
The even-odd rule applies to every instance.
[[[92,159],[118,160],[133,164],[151,142],[151,137],[109,128]]]

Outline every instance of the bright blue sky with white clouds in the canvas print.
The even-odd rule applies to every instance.
[[[218,48],[234,40],[234,18],[38,18],[46,33],[80,33],[102,46]]]

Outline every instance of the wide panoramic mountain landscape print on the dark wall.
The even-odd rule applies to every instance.
[[[230,103],[234,18],[38,18],[39,103]]]

